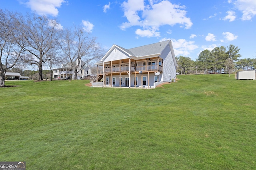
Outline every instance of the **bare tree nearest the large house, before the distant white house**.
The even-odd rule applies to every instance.
[[[66,62],[75,70],[74,79],[77,79],[77,73],[84,65],[102,56],[103,52],[96,42],[96,37],[90,36],[82,27],[74,26],[74,31],[65,29],[60,37],[59,45],[66,57]]]

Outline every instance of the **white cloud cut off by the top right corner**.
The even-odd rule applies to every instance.
[[[256,0],[236,0],[234,4],[242,11],[242,20],[251,20],[256,15]]]

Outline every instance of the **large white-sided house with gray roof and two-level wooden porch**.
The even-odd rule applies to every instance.
[[[168,40],[132,49],[113,45],[96,65],[93,86],[155,88],[175,81],[177,62]]]

